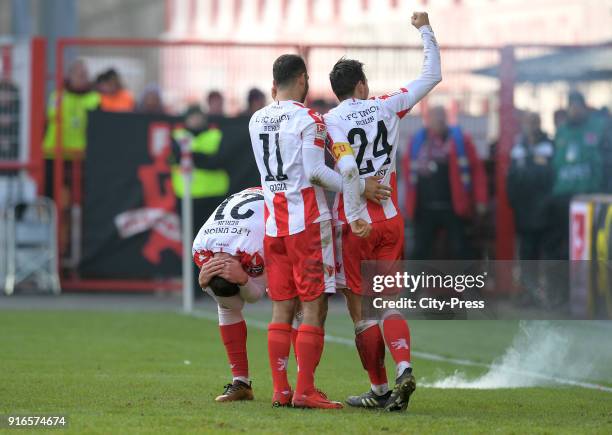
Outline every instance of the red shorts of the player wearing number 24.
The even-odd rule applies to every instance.
[[[372,232],[364,239],[357,237],[348,224],[336,231],[336,279],[338,287],[364,294],[361,288],[361,262],[365,260],[399,261],[404,253],[404,219],[396,215],[374,222]],[[367,289],[366,291],[371,291]]]

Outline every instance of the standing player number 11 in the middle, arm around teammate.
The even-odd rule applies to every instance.
[[[319,114],[304,106],[308,73],[304,60],[285,54],[272,67],[275,101],[253,114],[251,144],[265,196],[264,253],[272,320],[268,355],[274,384],[273,406],[342,408],[315,387],[314,374],[323,352],[327,293],[335,292],[334,239],[324,188],[339,192],[360,183],[325,166],[327,130]],[[366,235],[369,224],[351,227]],[[291,320],[297,301],[303,310],[295,351],[295,392],[287,379]]]

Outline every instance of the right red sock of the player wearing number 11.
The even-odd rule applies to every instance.
[[[308,394],[315,388],[314,372],[323,353],[325,332],[323,328],[300,325],[296,340],[298,376],[296,394]]]

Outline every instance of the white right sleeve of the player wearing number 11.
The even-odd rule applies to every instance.
[[[340,192],[342,191],[342,176],[325,165],[324,140],[326,136],[324,124],[313,123],[302,131],[304,172],[312,184],[333,192]],[[323,138],[322,145],[320,145],[321,137]]]

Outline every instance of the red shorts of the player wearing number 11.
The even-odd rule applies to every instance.
[[[273,301],[312,301],[336,292],[331,220],[284,237],[264,237],[268,295]]]

